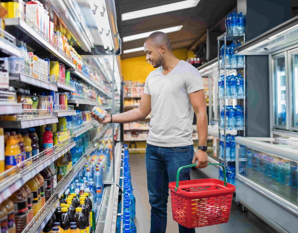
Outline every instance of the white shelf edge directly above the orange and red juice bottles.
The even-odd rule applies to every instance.
[[[41,116],[40,118],[29,118],[18,121],[0,121],[0,126],[3,128],[26,129],[30,127],[43,126],[52,123],[58,123],[58,117]]]

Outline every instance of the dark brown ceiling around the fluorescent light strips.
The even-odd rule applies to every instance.
[[[118,29],[120,37],[143,32],[183,25],[177,32],[169,33],[173,49],[190,48],[206,34],[207,28],[212,28],[221,21],[236,5],[236,0],[200,0],[193,8],[171,11],[163,14],[121,21],[121,14],[162,6],[178,0],[147,1],[147,0],[115,0]],[[122,43],[122,51],[130,48],[142,47],[145,39],[138,39]],[[143,51],[122,54],[121,58],[142,56]]]

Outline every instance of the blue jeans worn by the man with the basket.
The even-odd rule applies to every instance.
[[[150,233],[165,233],[167,227],[167,203],[169,182],[176,181],[179,167],[192,164],[193,145],[159,147],[146,145],[146,170],[151,205]],[[180,172],[179,180],[190,180],[191,168]],[[179,226],[179,233],[195,233],[195,229]]]

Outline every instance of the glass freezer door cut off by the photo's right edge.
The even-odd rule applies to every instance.
[[[289,53],[291,80],[291,128],[298,130],[298,51]]]

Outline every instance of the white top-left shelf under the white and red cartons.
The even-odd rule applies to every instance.
[[[54,48],[47,40],[45,40],[39,33],[33,28],[37,28],[33,23],[28,25],[20,18],[5,18],[5,30],[7,30],[16,38],[25,41],[35,50],[41,50],[44,54],[46,49],[50,54],[59,59],[60,62],[67,67],[75,68],[75,65],[68,60],[63,54],[61,54],[56,48]]]

